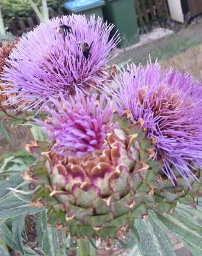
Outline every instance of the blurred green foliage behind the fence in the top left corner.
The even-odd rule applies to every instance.
[[[42,6],[42,0],[34,1],[37,3],[38,8]],[[48,8],[52,8],[55,11],[57,11],[58,8],[62,8],[64,2],[65,0],[47,0]],[[33,8],[31,8],[26,0],[1,0],[0,4],[3,21],[6,27],[10,26],[10,22],[13,19],[26,19],[35,15]]]

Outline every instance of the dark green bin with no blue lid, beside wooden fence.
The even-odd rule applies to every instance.
[[[112,32],[118,30],[120,33],[122,40],[118,47],[123,48],[139,42],[135,0],[105,0],[103,14],[105,20],[115,25]]]

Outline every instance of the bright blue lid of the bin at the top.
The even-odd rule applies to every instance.
[[[64,7],[71,12],[80,12],[98,6],[104,6],[104,0],[72,0],[64,3]]]

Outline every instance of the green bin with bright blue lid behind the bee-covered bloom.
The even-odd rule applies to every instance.
[[[104,4],[104,0],[72,0],[64,3],[64,8],[66,8],[69,15],[76,13],[86,15],[86,17],[91,15],[103,17],[102,6]]]

